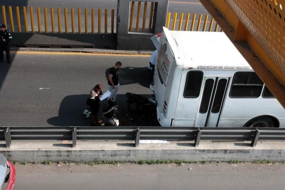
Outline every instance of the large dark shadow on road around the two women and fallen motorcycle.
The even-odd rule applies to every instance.
[[[151,97],[151,94],[142,94],[146,98]],[[84,118],[83,111],[89,107],[86,105],[86,100],[89,94],[69,95],[64,97],[59,105],[58,116],[47,119],[47,123],[53,126],[88,126],[91,118]],[[149,114],[136,114],[128,110],[127,98],[125,94],[117,95],[117,104],[119,105],[119,126],[152,126],[152,119]],[[103,108],[107,107],[106,99],[100,102],[98,119],[106,121],[103,117]],[[153,115],[152,115],[153,116]],[[153,116],[156,118],[156,115]]]

